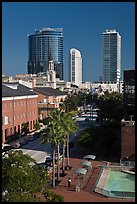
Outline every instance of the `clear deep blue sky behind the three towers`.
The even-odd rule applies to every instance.
[[[64,29],[64,80],[71,48],[81,52],[83,81],[102,75],[102,33],[116,29],[122,40],[121,71],[135,69],[134,2],[3,2],[2,74],[27,73],[28,39],[35,29]]]

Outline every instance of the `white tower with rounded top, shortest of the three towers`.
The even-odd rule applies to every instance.
[[[76,85],[82,83],[82,57],[75,48],[69,53],[69,81]]]

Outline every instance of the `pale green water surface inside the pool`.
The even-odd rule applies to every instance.
[[[110,192],[135,192],[135,175],[111,170],[104,189]]]

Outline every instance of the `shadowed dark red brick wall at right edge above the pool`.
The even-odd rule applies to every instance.
[[[121,158],[135,153],[135,125],[121,127]]]

